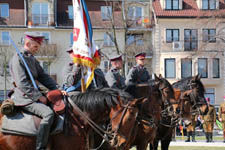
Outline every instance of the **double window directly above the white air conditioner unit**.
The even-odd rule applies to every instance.
[[[179,29],[166,29],[166,42],[179,41]]]

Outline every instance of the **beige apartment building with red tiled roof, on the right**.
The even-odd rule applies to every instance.
[[[155,0],[153,69],[170,82],[201,74],[206,97],[224,96],[223,0]]]

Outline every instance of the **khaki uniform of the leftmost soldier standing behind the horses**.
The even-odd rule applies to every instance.
[[[197,123],[198,116],[197,115],[192,115],[190,124],[187,125],[187,140],[185,142],[190,142],[190,136],[192,136],[192,142],[195,141],[195,126]]]

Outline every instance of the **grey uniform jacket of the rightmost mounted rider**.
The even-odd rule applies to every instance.
[[[126,77],[126,85],[145,83],[150,79],[149,73],[145,67],[134,66]]]

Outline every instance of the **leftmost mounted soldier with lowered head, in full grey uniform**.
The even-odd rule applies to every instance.
[[[33,56],[40,49],[44,37],[38,32],[26,32],[22,56],[26,61],[35,80],[43,84],[49,90],[57,89],[56,82],[44,72],[38,60]],[[44,150],[47,147],[51,125],[54,120],[54,112],[48,107],[47,99],[34,88],[25,64],[18,54],[15,54],[10,64],[11,76],[15,85],[12,100],[16,106],[41,117],[40,127],[37,133],[36,150]]]

